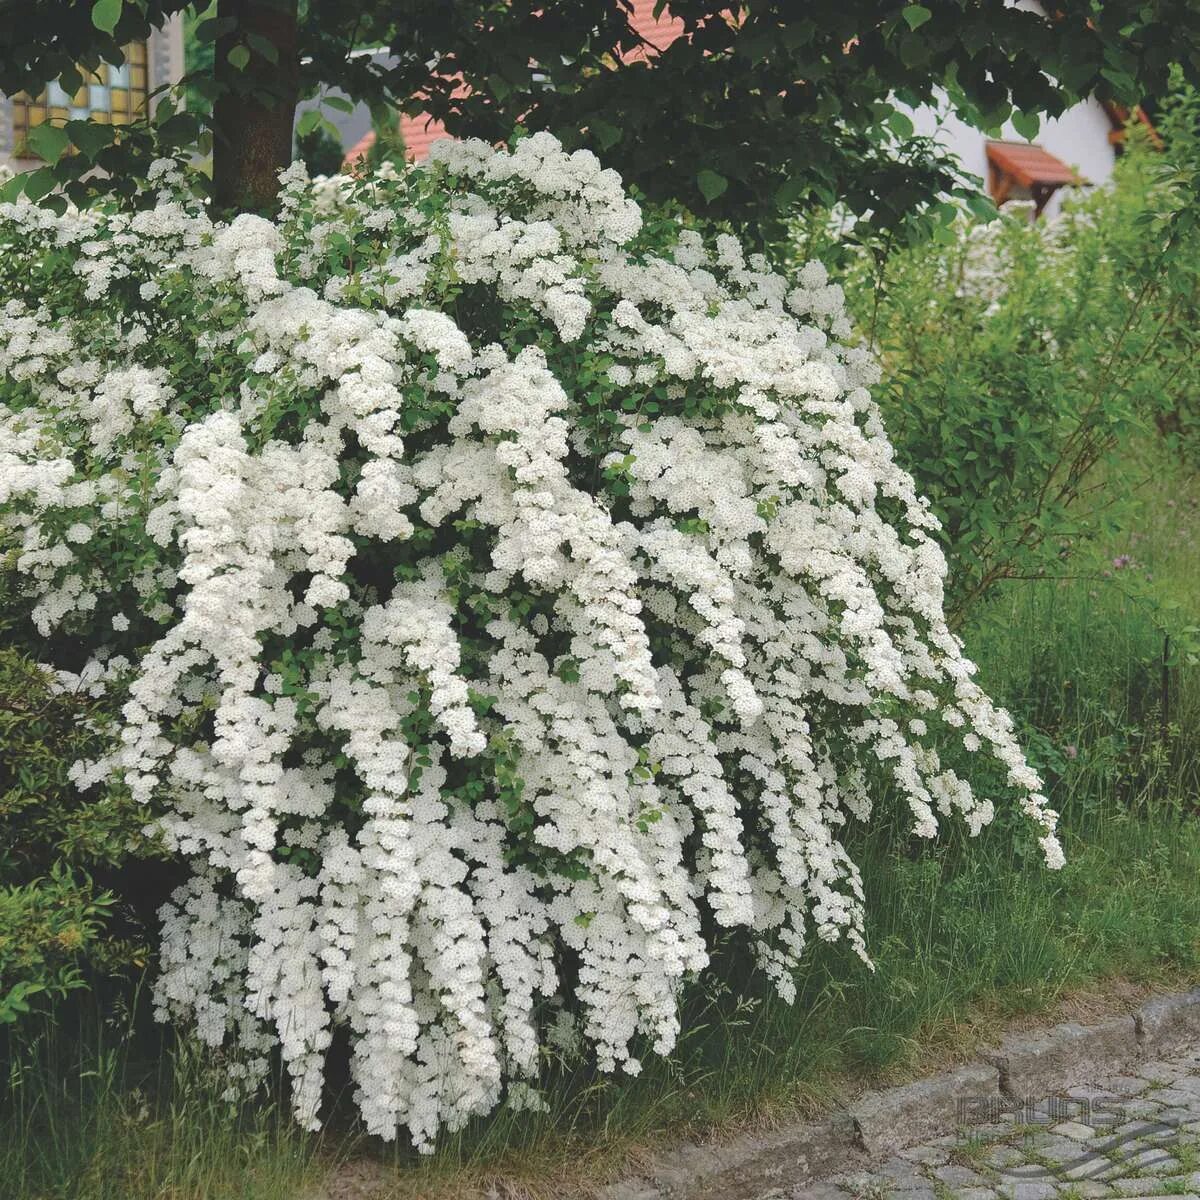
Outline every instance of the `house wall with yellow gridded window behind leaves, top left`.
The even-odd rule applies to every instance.
[[[126,125],[154,103],[151,92],[184,76],[184,17],[176,13],[148,41],[125,47],[121,66],[103,64],[67,95],[52,83],[40,96],[0,96],[0,167],[29,170],[40,160],[25,146],[29,131],[42,121],[90,119]]]

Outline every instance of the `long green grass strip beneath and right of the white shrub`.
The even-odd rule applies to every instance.
[[[1200,596],[1200,522],[1172,479],[1147,514],[1132,544],[1104,547],[1105,562],[1128,553],[1136,568],[1012,584],[966,631],[984,685],[1028,722],[1063,814],[1062,871],[1042,868],[1010,817],[930,845],[884,815],[852,836],[874,972],[815,947],[788,1007],[726,949],[686,997],[670,1060],[648,1056],[619,1081],[550,1064],[548,1114],[500,1111],[420,1164],[361,1138],[348,1104],[318,1136],[296,1132],[282,1104],[234,1114],[210,1064],[151,1030],[144,1004],[97,1013],[76,1000],[10,1038],[0,1196],[320,1200],[323,1174],[343,1160],[378,1175],[379,1195],[469,1194],[499,1176],[563,1195],[632,1146],[814,1111],[847,1079],[920,1073],[1114,979],[1200,977],[1200,668],[1168,646],[1164,719],[1170,614],[1146,599]]]

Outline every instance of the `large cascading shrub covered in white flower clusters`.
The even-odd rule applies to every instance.
[[[367,1127],[536,1103],[572,1022],[666,1052],[743,929],[788,996],[865,955],[840,840],[889,775],[932,836],[986,750],[1055,815],[942,614],[841,290],[647,223],[545,134],[212,223],[0,209],[0,528],[46,656],[122,701],[113,775],[193,864],[157,1004],[278,1046],[313,1124],[335,1024]]]

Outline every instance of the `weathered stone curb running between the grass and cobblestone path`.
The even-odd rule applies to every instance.
[[[960,1103],[1021,1102],[1116,1074],[1200,1038],[1200,989],[1158,996],[1126,1016],[1014,1033],[964,1067],[865,1092],[828,1117],[766,1135],[691,1142],[643,1162],[599,1200],[766,1200],[838,1170],[953,1133]]]

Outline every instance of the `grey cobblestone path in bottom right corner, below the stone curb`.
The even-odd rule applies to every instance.
[[[1200,1044],[781,1193],[787,1200],[1200,1200]]]

